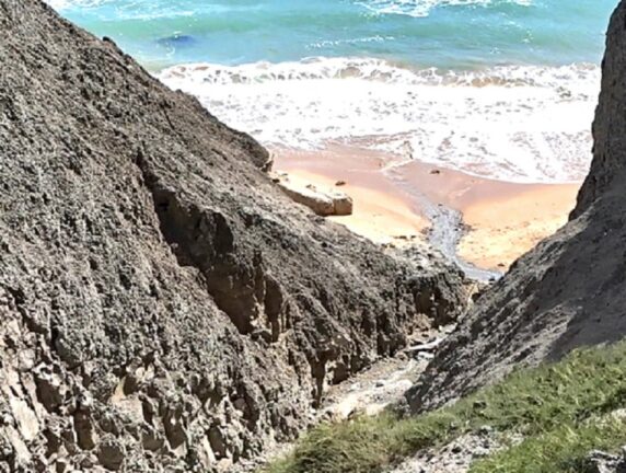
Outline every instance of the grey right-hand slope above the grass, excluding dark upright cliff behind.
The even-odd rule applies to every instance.
[[[626,214],[619,172],[589,210],[519,259],[447,341],[408,394],[439,406],[521,365],[626,335]]]

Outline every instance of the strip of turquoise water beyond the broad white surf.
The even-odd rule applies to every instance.
[[[155,64],[366,56],[420,67],[598,62],[615,0],[55,0]]]

